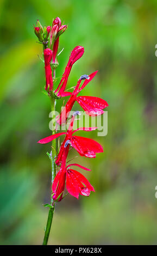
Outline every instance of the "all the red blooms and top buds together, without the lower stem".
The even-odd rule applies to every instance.
[[[38,23],[39,25],[39,23]],[[48,39],[49,35],[49,48],[45,48],[43,51],[45,58],[45,74],[46,74],[46,87],[45,89],[48,92],[53,92],[53,79],[52,79],[52,69],[56,68],[58,61],[56,59],[58,52],[58,44],[59,44],[59,36],[65,31],[67,28],[66,25],[61,26],[61,21],[57,17],[53,21],[52,27],[41,28],[39,25],[35,27],[35,34],[38,36],[39,40],[45,42],[44,40]],[[47,33],[46,33],[47,31]],[[103,109],[108,106],[108,103],[95,96],[78,96],[79,92],[85,88],[85,86],[95,77],[97,71],[93,72],[91,75],[83,75],[79,78],[76,87],[73,92],[66,92],[66,84],[68,81],[68,76],[70,75],[73,64],[81,58],[84,54],[84,47],[76,46],[70,54],[70,58],[66,65],[64,74],[61,77],[61,81],[59,83],[58,88],[54,90],[54,95],[56,98],[70,96],[70,99],[67,101],[65,107],[62,109],[60,115],[57,117],[58,125],[65,124],[67,118],[70,114],[70,111],[77,101],[79,105],[84,109],[87,115],[96,116],[104,113]],[[84,80],[83,84],[81,82]],[[63,198],[65,184],[68,193],[72,196],[78,198],[79,194],[83,196],[89,196],[90,191],[95,191],[90,182],[79,172],[74,169],[71,169],[72,166],[80,167],[84,170],[90,170],[81,166],[80,164],[73,163],[66,165],[67,155],[70,147],[76,149],[80,156],[85,156],[89,158],[96,157],[96,153],[102,153],[102,146],[93,141],[93,139],[74,136],[73,133],[83,130],[83,131],[93,131],[96,130],[97,127],[80,127],[77,130],[73,130],[74,119],[79,112],[76,111],[71,118],[70,125],[67,129],[67,132],[56,133],[49,137],[43,138],[39,141],[39,143],[45,144],[53,141],[53,139],[58,138],[61,135],[65,135],[65,139],[61,144],[59,154],[56,156],[55,164],[60,166],[58,173],[56,174],[53,185],[52,185],[52,193],[53,199],[56,201],[60,201]]]

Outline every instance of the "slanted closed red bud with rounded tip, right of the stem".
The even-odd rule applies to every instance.
[[[84,54],[84,47],[82,47],[82,46],[76,46],[72,50],[72,52],[70,54],[70,58],[69,58],[68,63],[66,65],[64,74],[62,75],[61,81],[59,83],[59,86],[54,91],[57,96],[64,97],[64,96],[71,95],[71,93],[64,92],[66,84],[67,84],[68,76],[70,75],[70,71],[72,69],[73,64],[75,62],[77,62],[77,60],[80,59],[81,56],[83,56],[83,54]]]

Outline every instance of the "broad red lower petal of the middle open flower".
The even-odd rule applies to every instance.
[[[96,157],[96,153],[102,153],[103,147],[93,139],[72,136],[71,145],[75,148],[81,156]]]

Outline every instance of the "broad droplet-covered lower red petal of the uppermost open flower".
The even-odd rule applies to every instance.
[[[93,96],[79,96],[77,102],[89,115],[101,115],[104,113],[102,109],[109,106],[105,100]]]

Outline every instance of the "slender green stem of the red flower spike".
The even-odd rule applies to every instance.
[[[53,72],[53,80],[55,79],[55,71]],[[55,97],[53,94],[53,91],[50,92],[50,99],[51,99],[51,112],[52,112],[52,120],[53,120],[53,130],[52,134],[55,134]],[[56,157],[56,139],[53,139],[52,141],[52,150],[50,154],[50,160],[51,160],[51,173],[52,173],[52,184],[56,175],[56,165],[55,165],[55,157]],[[43,239],[42,245],[47,245],[48,242],[48,237],[49,233],[51,230],[51,225],[52,225],[52,220],[53,220],[53,214],[54,214],[54,209],[55,209],[55,203],[53,202],[53,197],[52,197],[52,184],[51,184],[51,205],[52,207],[49,208],[48,212],[48,219],[47,219],[47,224],[46,224],[46,230],[45,230],[45,236]]]

